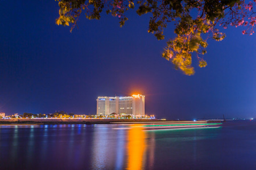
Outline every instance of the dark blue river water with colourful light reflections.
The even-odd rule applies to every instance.
[[[1,126],[0,169],[256,169],[256,122],[147,131],[122,125]]]

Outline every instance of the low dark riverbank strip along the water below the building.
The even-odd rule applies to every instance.
[[[94,118],[15,118],[15,119],[0,119],[0,124],[43,124],[43,125],[66,125],[66,124],[113,124],[127,122],[166,122],[156,119],[94,119]]]

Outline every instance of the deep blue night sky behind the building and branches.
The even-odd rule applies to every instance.
[[[96,114],[97,96],[145,95],[157,118],[256,117],[256,40],[243,28],[209,41],[205,60],[187,76],[162,58],[166,39],[147,32],[150,14],[100,20],[80,16],[79,28],[58,26],[58,2],[0,1],[0,112]]]

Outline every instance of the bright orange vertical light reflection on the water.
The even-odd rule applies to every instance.
[[[136,126],[136,127],[135,127]],[[128,131],[128,164],[127,169],[143,169],[144,168],[144,152],[146,148],[146,133],[139,125],[134,125]]]

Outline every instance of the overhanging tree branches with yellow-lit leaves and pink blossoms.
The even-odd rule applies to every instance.
[[[221,41],[225,33],[220,28],[244,26],[243,34],[253,34],[256,15],[255,2],[245,0],[55,0],[59,1],[57,25],[77,25],[77,20],[85,12],[88,19],[100,19],[102,11],[119,18],[122,27],[128,18],[125,12],[137,8],[137,14],[150,13],[148,32],[158,40],[163,40],[163,30],[167,23],[174,22],[176,37],[167,41],[163,57],[174,63],[187,75],[195,73],[192,54],[198,59],[199,67],[207,66],[203,55],[207,53],[207,40]]]

